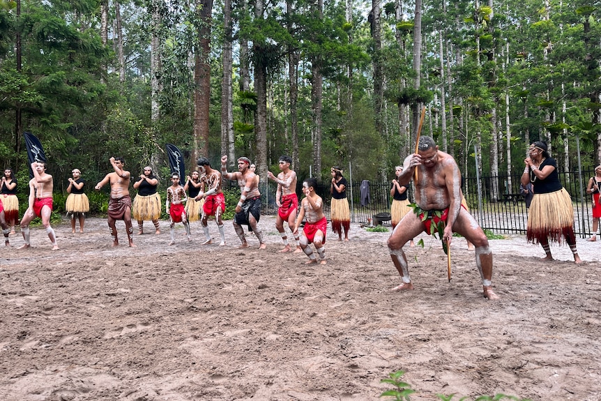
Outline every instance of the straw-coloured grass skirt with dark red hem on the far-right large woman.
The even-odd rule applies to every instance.
[[[548,194],[535,193],[528,209],[526,239],[532,243],[561,243],[574,238],[572,199],[564,188]]]

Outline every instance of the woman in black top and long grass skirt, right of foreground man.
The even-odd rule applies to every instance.
[[[557,162],[549,156],[545,142],[533,142],[528,148],[528,157],[524,159],[526,167],[521,182],[532,183],[534,195],[528,209],[526,239],[540,243],[545,250],[542,259],[553,260],[549,238],[561,243],[562,239],[570,245],[574,262],[581,263],[576,250],[574,234],[574,209],[572,198],[559,181]]]

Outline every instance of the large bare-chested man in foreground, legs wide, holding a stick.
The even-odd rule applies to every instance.
[[[414,181],[415,197],[421,210],[418,211],[420,215],[407,213],[388,239],[390,257],[403,280],[394,290],[413,289],[403,245],[420,232],[431,234],[430,225],[437,226],[443,222],[443,243],[450,245],[452,233],[458,232],[476,246],[476,266],[482,278],[484,296],[498,299],[499,296],[492,290],[492,251],[485,233],[461,206],[461,174],[455,159],[439,151],[434,139],[423,136],[418,143],[418,153],[409,155],[403,167],[398,179],[401,185],[407,185],[413,172],[418,172],[418,178]]]

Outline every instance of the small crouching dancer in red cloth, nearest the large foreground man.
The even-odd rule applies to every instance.
[[[298,235],[298,227],[303,222],[303,218],[306,219],[305,227],[303,227],[303,234],[300,234],[300,248],[303,249],[305,255],[309,257],[309,261],[305,264],[317,263],[317,257],[315,257],[313,250],[310,247],[310,243],[315,245],[317,255],[319,255],[319,264],[326,264],[326,250],[324,244],[326,243],[326,232],[328,231],[328,220],[324,215],[324,201],[315,192],[317,188],[317,180],[314,178],[306,179],[303,182],[303,193],[305,197],[300,202],[300,212],[298,212],[298,218],[296,219],[296,225],[294,225],[294,234]]]

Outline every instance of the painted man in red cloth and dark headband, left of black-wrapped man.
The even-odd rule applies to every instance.
[[[196,164],[200,168],[202,179],[201,190],[195,199],[200,200],[204,198],[200,222],[206,236],[206,241],[202,245],[213,243],[211,234],[208,233],[208,216],[214,215],[219,234],[221,235],[219,246],[225,246],[225,229],[223,227],[223,220],[221,219],[221,215],[225,212],[225,195],[223,195],[223,190],[221,189],[221,173],[211,167],[211,162],[207,158],[199,158]],[[204,192],[205,190],[206,192]]]

